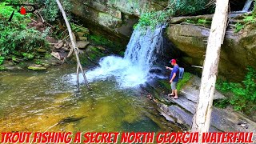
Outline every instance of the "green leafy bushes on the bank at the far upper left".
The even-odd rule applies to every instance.
[[[26,28],[30,22],[29,16],[15,13],[11,22],[7,22],[14,9],[0,3],[0,53],[3,55],[15,53],[16,50],[30,52],[34,48],[47,46],[45,39],[38,30]],[[17,11],[17,10],[16,10]]]

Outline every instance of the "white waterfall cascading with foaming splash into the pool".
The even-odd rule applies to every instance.
[[[97,68],[86,73],[88,81],[114,77],[118,86],[126,88],[139,86],[154,77],[150,74],[150,68],[156,60],[156,53],[162,49],[164,27],[164,25],[157,26],[155,30],[146,30],[146,33],[139,28],[134,30],[124,58],[118,56],[102,58]]]

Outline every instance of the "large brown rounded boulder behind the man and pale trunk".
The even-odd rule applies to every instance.
[[[171,42],[186,56],[182,59],[190,65],[202,66],[210,29],[202,26],[175,24],[169,26],[167,35]],[[256,68],[256,29],[247,26],[242,32],[226,32],[222,45],[219,74],[225,78],[241,81],[246,66]]]

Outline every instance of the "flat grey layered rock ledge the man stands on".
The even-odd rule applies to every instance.
[[[185,130],[190,130],[198,102],[200,82],[200,78],[192,76],[189,82],[185,86],[182,86],[178,99],[171,99],[167,96],[170,87],[166,87],[161,81],[155,82],[154,84],[149,83],[146,86],[146,91],[150,93],[151,99],[160,107],[158,111],[162,116],[170,122],[178,123],[182,127],[184,126]],[[215,90],[214,100],[223,98],[225,97],[218,90]],[[231,107],[227,107],[226,109],[213,107],[210,131],[252,132],[255,130],[256,123],[250,118],[247,118],[245,114],[238,113]]]

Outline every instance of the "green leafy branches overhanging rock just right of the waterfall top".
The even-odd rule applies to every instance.
[[[205,9],[205,0],[170,0],[170,8],[174,15],[194,14],[198,10]]]

